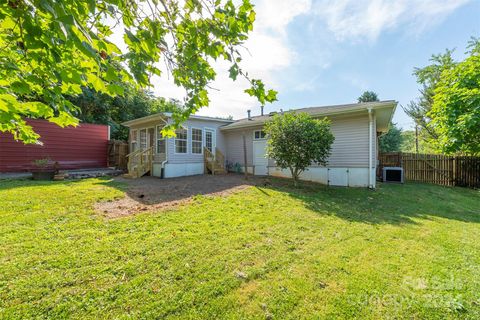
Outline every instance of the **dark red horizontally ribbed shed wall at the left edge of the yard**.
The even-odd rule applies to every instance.
[[[27,171],[37,159],[58,161],[60,169],[107,166],[108,126],[82,123],[61,128],[46,120],[27,120],[42,145],[25,145],[11,134],[0,133],[0,172]]]

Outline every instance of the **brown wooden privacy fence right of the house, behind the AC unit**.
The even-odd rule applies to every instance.
[[[480,157],[382,153],[379,155],[379,176],[383,167],[402,167],[405,181],[480,188]]]

